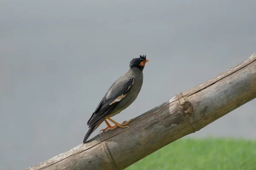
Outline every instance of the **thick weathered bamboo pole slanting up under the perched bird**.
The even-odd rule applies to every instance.
[[[143,113],[129,124],[130,128],[100,133],[87,143],[26,170],[123,170],[255,97],[256,53]]]

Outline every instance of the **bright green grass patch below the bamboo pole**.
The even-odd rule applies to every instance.
[[[256,141],[183,138],[125,170],[256,170]]]

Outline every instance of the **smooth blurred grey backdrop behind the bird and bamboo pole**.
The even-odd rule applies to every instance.
[[[81,144],[87,120],[146,54],[139,116],[256,52],[254,0],[1,0],[0,169]],[[256,100],[189,136],[256,138]],[[91,136],[94,137],[102,124]]]

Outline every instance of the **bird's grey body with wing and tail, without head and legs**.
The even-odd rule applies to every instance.
[[[93,131],[96,130],[96,128],[99,127],[99,125],[104,121],[105,116],[112,117],[130,106],[137,98],[142,84],[143,71],[137,67],[128,69],[122,76],[116,79],[116,81],[113,82],[111,87],[108,89],[102,101],[96,107],[93,115],[87,122],[89,130],[84,137],[83,143],[86,142],[90,134],[93,133]],[[115,100],[118,96],[120,96],[120,94],[123,94],[127,89],[128,85],[131,85],[131,88],[128,88],[129,91],[125,95],[125,97],[119,102],[114,103],[115,106],[113,106],[112,109],[108,109],[110,103],[113,102],[113,100]]]

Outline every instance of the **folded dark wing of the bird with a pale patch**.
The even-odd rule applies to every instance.
[[[108,92],[99,102],[99,105],[93,112],[93,115],[87,122],[87,125],[94,127],[100,122],[108,113],[113,111],[113,109],[118,105],[118,103],[128,94],[131,90],[131,86],[134,83],[134,77],[129,77],[121,80],[117,80],[111,85]]]

